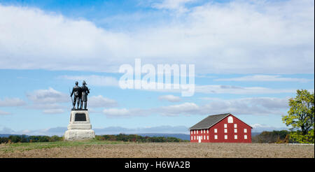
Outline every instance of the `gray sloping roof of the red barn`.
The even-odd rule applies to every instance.
[[[209,115],[208,117],[204,118],[204,120],[201,120],[200,122],[195,124],[193,127],[190,127],[190,129],[209,129],[228,115],[230,115],[230,113]]]

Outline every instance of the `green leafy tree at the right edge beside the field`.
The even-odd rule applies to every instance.
[[[290,110],[282,117],[290,126],[290,138],[299,143],[314,143],[314,92],[297,89],[297,96],[289,99]]]

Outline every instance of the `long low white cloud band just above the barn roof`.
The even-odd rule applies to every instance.
[[[205,99],[205,98],[203,98]],[[139,115],[214,115],[233,113],[237,115],[283,115],[288,110],[288,97],[280,99],[273,97],[251,97],[242,99],[208,99],[202,105],[186,102],[172,106],[161,106],[148,109],[118,109],[103,110],[110,117],[132,117]]]

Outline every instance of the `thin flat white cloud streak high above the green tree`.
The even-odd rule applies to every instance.
[[[268,75],[254,75],[254,76],[243,76],[238,78],[218,78],[217,81],[277,81],[277,82],[302,82],[307,83],[311,80],[306,78],[283,78],[281,76],[268,76]]]

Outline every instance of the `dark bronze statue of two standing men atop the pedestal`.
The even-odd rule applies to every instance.
[[[72,100],[72,110],[79,109],[79,104],[80,104],[80,109],[86,109],[87,106],[87,94],[90,94],[90,89],[87,88],[87,84],[83,80],[82,87],[78,86],[78,81],[76,81],[76,86],[73,87],[72,92],[71,92],[71,99],[73,96]]]

